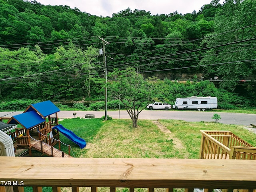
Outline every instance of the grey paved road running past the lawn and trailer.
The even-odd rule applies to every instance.
[[[8,114],[5,117],[12,117],[22,112],[0,112],[0,117]],[[60,111],[58,118],[74,118],[73,113],[76,113],[76,117],[84,118],[86,114],[94,114],[95,118],[101,118],[105,115],[104,111]],[[221,113],[211,111],[188,111],[188,110],[143,110],[139,119],[156,120],[156,119],[172,119],[172,120],[184,120],[184,121],[214,121],[212,119],[213,114],[219,114],[221,119],[218,121],[224,124],[235,125],[250,125],[251,123],[256,125],[256,114],[239,114],[239,113]],[[114,119],[130,119],[130,116],[125,110],[108,111],[108,116]]]

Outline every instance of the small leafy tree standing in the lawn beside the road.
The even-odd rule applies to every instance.
[[[114,69],[109,77],[112,79],[108,85],[110,94],[122,102],[132,119],[132,126],[138,127],[139,114],[151,101],[150,84],[134,68],[124,71]]]

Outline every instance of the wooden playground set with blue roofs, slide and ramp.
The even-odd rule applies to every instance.
[[[11,118],[0,118],[0,130],[10,136],[15,152],[18,149],[28,150],[32,156],[32,149],[40,151],[50,157],[72,157],[60,149],[60,133],[76,143],[81,149],[86,141],[58,123],[60,109],[51,101],[31,104],[19,115]],[[2,120],[8,120],[7,123]],[[21,126],[17,126],[20,124]],[[15,130],[15,131],[13,131]],[[58,149],[54,146],[58,144]]]

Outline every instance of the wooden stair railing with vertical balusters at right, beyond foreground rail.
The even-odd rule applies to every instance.
[[[256,159],[256,148],[230,131],[201,133],[200,159]]]

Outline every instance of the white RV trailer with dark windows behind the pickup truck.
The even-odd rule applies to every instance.
[[[206,109],[217,109],[218,100],[216,97],[184,97],[176,98],[175,108],[177,109],[197,109],[204,111]]]

